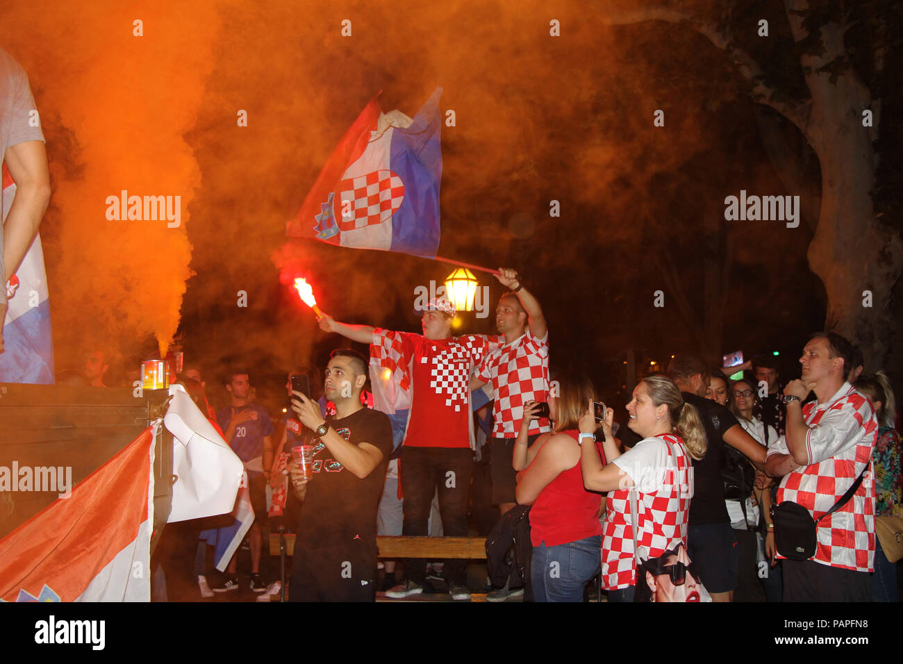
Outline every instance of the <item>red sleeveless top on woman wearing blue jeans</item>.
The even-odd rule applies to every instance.
[[[572,430],[562,433],[576,441],[580,432]],[[602,463],[605,463],[602,444],[597,442],[596,449]],[[572,468],[558,473],[558,477],[549,482],[534,500],[530,509],[530,542],[538,547],[545,540],[546,547],[557,547],[601,535],[601,504],[600,493],[587,491],[583,487],[583,473],[578,459]]]

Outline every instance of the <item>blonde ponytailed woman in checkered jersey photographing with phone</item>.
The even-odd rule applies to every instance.
[[[602,538],[602,587],[609,591],[609,602],[634,599],[635,539],[640,561],[662,556],[679,544],[686,546],[693,496],[690,460],[702,459],[706,445],[696,409],[684,404],[680,390],[664,376],[643,379],[633,390],[627,411],[628,427],[642,435],[642,441],[620,454],[611,434],[609,410],[602,432],[610,463],[604,465],[595,445],[585,441],[581,452],[584,486],[590,491],[609,491]],[[580,431],[591,433],[594,429],[590,404],[590,411],[580,420]]]

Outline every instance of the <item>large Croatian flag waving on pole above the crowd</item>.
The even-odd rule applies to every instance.
[[[345,132],[285,234],[435,257],[442,121],[437,88],[414,118],[377,98]]]

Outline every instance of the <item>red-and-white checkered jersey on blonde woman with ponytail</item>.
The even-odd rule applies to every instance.
[[[693,464],[676,435],[646,438],[612,463],[628,471],[638,491],[637,545],[641,560],[686,544],[693,497]],[[602,586],[619,590],[636,584],[630,490],[610,491],[602,527]]]

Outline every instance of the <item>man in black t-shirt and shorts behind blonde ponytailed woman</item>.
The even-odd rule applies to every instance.
[[[693,404],[699,411],[708,442],[703,459],[693,463],[687,551],[712,601],[731,602],[737,587],[739,551],[724,504],[721,482],[724,444],[740,451],[759,470],[765,468],[768,450],[746,433],[730,410],[703,397],[709,383],[709,369],[701,358],[678,353],[668,364],[668,378],[675,381],[684,402]]]

